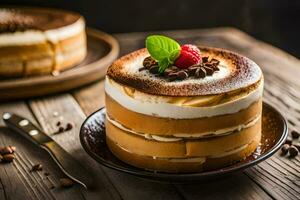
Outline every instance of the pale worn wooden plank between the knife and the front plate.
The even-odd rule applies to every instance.
[[[102,199],[120,199],[120,194],[111,184],[103,170],[81,148],[78,133],[85,115],[73,97],[69,94],[63,94],[32,100],[29,102],[29,105],[44,131],[73,155],[75,159],[84,163],[83,166],[92,174],[97,184],[97,190],[82,191],[84,197],[87,199],[98,199],[101,196]],[[74,128],[70,131],[56,134],[58,121],[63,126],[71,122]]]

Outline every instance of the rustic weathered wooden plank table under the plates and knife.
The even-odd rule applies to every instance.
[[[160,32],[162,33],[162,32]],[[150,33],[117,34],[121,55],[144,46]],[[181,43],[227,48],[257,62],[265,75],[264,101],[277,107],[288,119],[290,129],[300,130],[300,62],[287,53],[232,28],[169,31]],[[1,98],[1,94],[0,94]],[[165,184],[139,179],[100,166],[81,148],[78,132],[87,115],[104,106],[103,80],[92,85],[43,98],[0,104],[5,111],[23,115],[49,133],[78,159],[98,181],[96,191],[79,186],[62,189],[63,177],[49,156],[20,136],[0,128],[0,146],[15,145],[16,159],[0,165],[0,199],[299,199],[300,156],[288,159],[276,155],[244,172],[215,181],[191,184]],[[59,116],[56,116],[56,112]],[[53,134],[56,123],[72,122],[71,131]],[[0,122],[3,125],[3,122]],[[42,172],[30,173],[41,163]],[[44,175],[50,173],[50,181]],[[51,185],[54,189],[50,189]]]

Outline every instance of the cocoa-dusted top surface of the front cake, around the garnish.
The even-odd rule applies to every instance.
[[[140,49],[115,61],[107,71],[107,76],[125,86],[139,91],[164,96],[201,96],[232,92],[257,85],[262,72],[252,60],[228,50],[198,47],[203,56],[220,61],[219,71],[204,78],[188,77],[184,80],[169,81],[140,70],[149,56],[147,49]]]

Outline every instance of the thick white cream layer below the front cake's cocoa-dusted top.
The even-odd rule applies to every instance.
[[[260,85],[241,98],[217,104],[214,106],[193,107],[168,102],[165,96],[151,95],[143,92],[135,92],[134,98],[124,91],[122,85],[106,76],[105,92],[121,106],[133,112],[173,119],[194,119],[232,114],[249,107],[262,97],[263,80]],[[207,96],[203,96],[207,98]]]

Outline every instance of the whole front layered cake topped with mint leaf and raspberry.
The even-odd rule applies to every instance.
[[[255,151],[263,93],[257,64],[164,36],[148,37],[146,46],[107,71],[106,142],[116,157],[187,173],[228,166]]]

